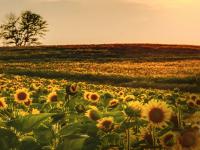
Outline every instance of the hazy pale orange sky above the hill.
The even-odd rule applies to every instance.
[[[200,45],[200,0],[0,0],[0,23],[22,10],[49,23],[44,44]]]

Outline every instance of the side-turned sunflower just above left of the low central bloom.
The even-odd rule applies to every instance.
[[[94,121],[100,119],[99,110],[95,106],[90,106],[90,109],[86,111],[85,116]]]

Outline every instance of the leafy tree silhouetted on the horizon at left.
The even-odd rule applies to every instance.
[[[9,14],[0,26],[0,38],[15,46],[38,45],[47,32],[47,22],[38,14],[24,11],[19,17]]]

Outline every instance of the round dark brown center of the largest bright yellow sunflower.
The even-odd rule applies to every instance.
[[[150,112],[149,112],[149,119],[153,122],[153,123],[160,123],[164,120],[164,112],[162,109],[160,108],[153,108]]]

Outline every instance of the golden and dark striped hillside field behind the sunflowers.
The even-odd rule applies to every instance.
[[[0,71],[73,81],[200,92],[200,47],[71,45],[0,48]]]

